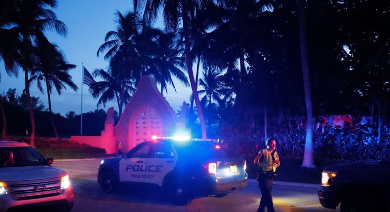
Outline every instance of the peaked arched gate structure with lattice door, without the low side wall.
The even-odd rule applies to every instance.
[[[158,92],[156,81],[142,76],[137,91],[126,105],[114,136],[118,148],[128,151],[153,135],[169,136],[175,130],[176,115],[165,97]]]

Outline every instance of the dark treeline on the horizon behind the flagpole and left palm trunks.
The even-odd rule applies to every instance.
[[[4,95],[0,95],[6,117],[6,135],[8,136],[28,136],[31,132],[30,120],[28,116],[28,106],[26,95],[23,93],[17,96],[16,89],[9,89]],[[32,97],[34,113],[36,114],[36,134],[39,137],[54,138],[53,128],[50,123],[50,112],[43,106],[39,98]],[[88,136],[100,136],[104,130],[104,121],[107,113],[105,110],[95,110],[83,113],[82,134]],[[117,114],[115,117],[117,119]],[[54,114],[54,121],[61,138],[70,138],[80,135],[80,114],[69,111],[62,116],[60,113]],[[0,129],[3,128],[0,123]]]

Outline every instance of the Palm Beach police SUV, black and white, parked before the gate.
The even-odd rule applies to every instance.
[[[223,197],[248,184],[246,162],[233,146],[221,142],[156,139],[122,157],[102,161],[97,180],[105,192],[120,183],[156,184],[175,205],[195,196]]]

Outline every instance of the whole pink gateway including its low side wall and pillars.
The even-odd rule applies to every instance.
[[[183,106],[186,106],[183,102]],[[182,112],[183,113],[183,112]],[[101,136],[72,136],[71,140],[105,148],[108,154],[122,149],[128,151],[152,136],[172,136],[176,128],[185,129],[186,114],[176,118],[165,97],[158,92],[156,81],[142,76],[137,91],[125,106],[120,120],[114,127],[114,108],[107,110],[107,120]],[[183,122],[183,123],[182,123]]]

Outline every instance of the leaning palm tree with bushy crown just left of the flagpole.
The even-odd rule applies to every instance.
[[[46,85],[51,124],[55,137],[58,140],[60,137],[58,136],[57,128],[54,123],[50,94],[53,91],[53,86],[58,95],[61,95],[62,89],[66,90],[66,85],[74,91],[78,90],[77,85],[72,81],[72,76],[69,74],[69,70],[75,69],[76,65],[67,64],[61,50],[56,45],[51,44],[46,37],[37,37],[37,46],[35,49],[36,64],[32,71],[33,76],[31,79],[38,80],[38,88],[42,93],[44,92],[41,82],[44,81]]]

